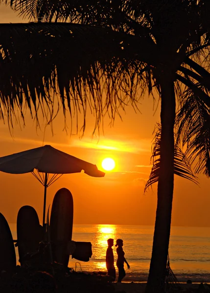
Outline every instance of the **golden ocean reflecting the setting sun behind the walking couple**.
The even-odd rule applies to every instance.
[[[17,239],[16,225],[10,224]],[[130,269],[125,265],[123,281],[146,282],[152,251],[154,227],[127,225],[75,225],[72,240],[92,243],[89,262],[79,262],[70,256],[69,267],[76,271],[106,272],[107,239],[123,239],[123,250]],[[113,247],[117,260],[116,247]],[[16,249],[17,263],[18,250]],[[170,267],[179,282],[210,283],[210,228],[171,227],[169,246]],[[117,267],[116,267],[117,268]]]

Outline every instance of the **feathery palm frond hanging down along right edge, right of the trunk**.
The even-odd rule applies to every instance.
[[[201,84],[189,85],[182,96],[176,125],[179,141],[187,145],[190,164],[195,162],[195,172],[210,177],[210,97],[207,93],[210,95],[209,89]]]

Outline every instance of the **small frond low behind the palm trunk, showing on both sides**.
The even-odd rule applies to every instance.
[[[153,144],[152,163],[153,167],[149,179],[145,185],[144,191],[154,183],[158,182],[161,167],[161,125],[157,124]],[[174,174],[188,179],[197,184],[196,177],[193,175],[187,156],[182,149],[176,144],[174,151]]]

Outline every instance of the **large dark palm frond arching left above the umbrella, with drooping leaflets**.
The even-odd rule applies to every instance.
[[[106,113],[114,119],[118,107],[136,107],[139,86],[151,88],[149,69],[144,69],[151,63],[150,51],[146,41],[109,28],[0,24],[0,118],[11,122],[16,110],[24,117],[26,104],[35,115],[38,109],[49,113],[50,121],[57,113],[54,92],[64,114],[67,108],[72,116],[83,113],[84,126],[90,106],[97,127]]]

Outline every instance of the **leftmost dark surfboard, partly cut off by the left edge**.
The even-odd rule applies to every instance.
[[[0,213],[0,272],[11,272],[16,268],[15,246],[12,233],[2,213]]]

